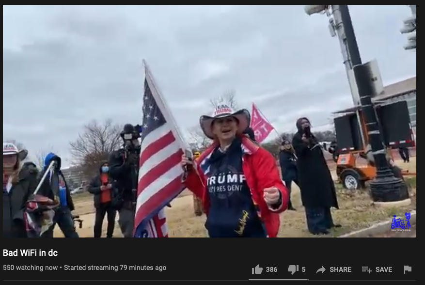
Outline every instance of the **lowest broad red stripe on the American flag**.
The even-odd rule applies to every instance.
[[[160,180],[162,180],[162,179],[160,179]],[[152,195],[149,200],[146,200],[145,202],[143,202],[143,207],[139,207],[137,209],[136,221],[142,221],[144,219],[152,219],[153,215],[155,214],[154,211],[156,210],[157,205],[159,204],[159,205],[162,205],[162,207],[165,207],[165,205],[167,203],[163,202],[164,197],[168,197],[170,191],[175,190],[175,189],[179,189],[179,187],[181,187],[181,184],[182,184],[182,180],[181,180],[180,176],[174,178],[173,180],[171,180],[171,179],[165,180],[164,179],[164,181],[167,181],[168,184],[163,186],[161,188],[161,190],[156,191],[154,193],[154,195]],[[161,181],[161,184],[163,184],[163,183],[164,182]],[[172,197],[172,199],[177,197],[179,194],[180,194],[180,192],[176,193],[175,196]]]

